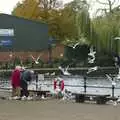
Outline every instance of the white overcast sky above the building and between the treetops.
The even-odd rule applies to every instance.
[[[11,14],[11,11],[13,10],[13,8],[15,7],[15,5],[17,4],[18,1],[22,1],[22,0],[0,0],[0,13],[6,13],[6,14]],[[64,3],[70,2],[72,0],[62,0]],[[87,0],[89,3],[91,3],[91,15],[94,14],[94,11],[98,8],[100,8],[100,4],[97,4],[95,1],[96,0]],[[106,0],[100,0],[100,1],[106,1]],[[119,1],[120,0],[116,0]],[[117,4],[119,4],[117,3]]]

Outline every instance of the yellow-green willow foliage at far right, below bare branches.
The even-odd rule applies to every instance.
[[[97,17],[93,20],[94,30],[97,34],[97,48],[99,51],[111,52],[111,46],[116,47],[114,38],[119,36],[120,23],[118,16]],[[113,45],[112,45],[113,44]]]

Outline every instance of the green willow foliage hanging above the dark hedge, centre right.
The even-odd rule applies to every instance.
[[[66,37],[64,44],[74,45],[75,43],[88,44],[90,42],[90,18],[89,6],[85,0],[74,0],[66,4],[64,10],[69,10],[68,13],[72,17],[74,23],[74,34]],[[68,18],[69,19],[69,18]]]

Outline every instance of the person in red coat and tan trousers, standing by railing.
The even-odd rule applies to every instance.
[[[21,79],[21,66],[16,66],[15,70],[12,72],[11,85],[12,85],[12,97],[20,97],[20,79]]]

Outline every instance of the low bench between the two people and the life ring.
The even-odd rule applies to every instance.
[[[29,94],[36,94],[37,96],[42,96],[44,95],[44,97],[47,97],[50,95],[50,91],[48,90],[28,90]]]

